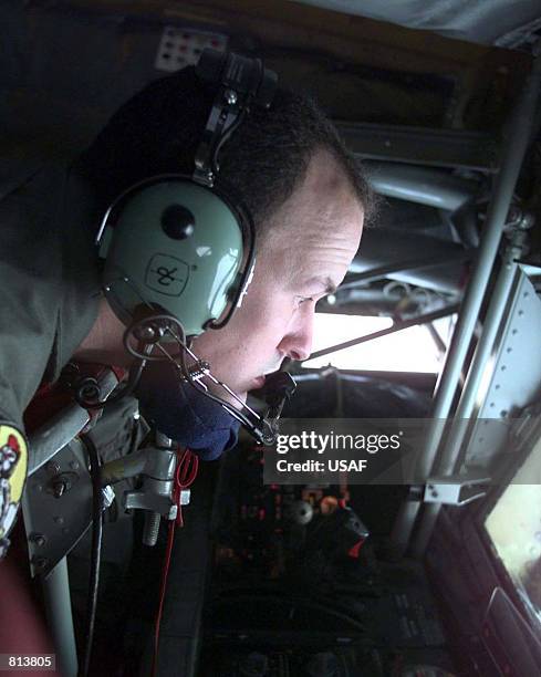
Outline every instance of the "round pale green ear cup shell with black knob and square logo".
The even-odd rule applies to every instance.
[[[223,326],[238,299],[236,293],[230,303],[230,290],[245,272],[243,235],[242,217],[219,190],[180,175],[134,186],[102,228],[110,304],[126,324],[145,303],[166,309],[186,334],[200,334],[225,316]]]

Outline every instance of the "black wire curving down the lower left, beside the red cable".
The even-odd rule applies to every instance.
[[[89,577],[89,600],[86,603],[86,627],[84,635],[84,654],[80,663],[79,677],[89,675],[90,660],[92,656],[92,644],[94,639],[94,625],[96,619],[97,590],[100,586],[100,560],[102,552],[103,534],[103,510],[102,510],[102,478],[100,470],[100,457],[96,446],[87,435],[81,436],[90,459],[90,472],[92,478],[92,550],[91,570]]]

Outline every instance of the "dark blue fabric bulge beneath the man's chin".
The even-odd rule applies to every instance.
[[[150,363],[137,386],[141,413],[156,428],[201,460],[215,460],[237,444],[239,421],[167,363]]]

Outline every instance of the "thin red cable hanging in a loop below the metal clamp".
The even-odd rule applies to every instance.
[[[154,629],[154,654],[150,673],[153,677],[156,677],[156,668],[158,663],[159,626],[162,624],[162,613],[164,611],[167,575],[169,573],[169,564],[173,553],[173,542],[175,541],[175,529],[176,527],[184,527],[183,508],[180,506],[180,493],[184,489],[188,489],[191,486],[191,483],[197,477],[197,470],[199,468],[199,458],[189,449],[185,449],[183,452],[180,451],[180,449],[178,449],[177,459],[178,460],[177,469],[175,472],[175,485],[173,487],[173,501],[177,506],[177,517],[175,520],[170,520],[167,531],[167,546],[165,551],[164,569],[162,571],[159,605],[156,614],[156,624]]]

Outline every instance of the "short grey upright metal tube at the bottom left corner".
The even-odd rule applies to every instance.
[[[77,652],[66,558],[60,560],[49,576],[43,580],[42,586],[48,623],[59,660],[56,668],[63,677],[76,677]]]

